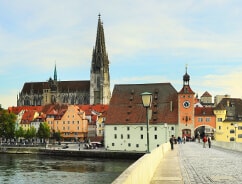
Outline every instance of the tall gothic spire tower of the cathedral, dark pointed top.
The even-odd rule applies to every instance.
[[[98,15],[96,44],[92,53],[90,104],[109,104],[111,98],[109,60],[101,15]]]

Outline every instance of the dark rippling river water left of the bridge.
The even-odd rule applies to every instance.
[[[0,184],[108,184],[134,160],[0,154]]]

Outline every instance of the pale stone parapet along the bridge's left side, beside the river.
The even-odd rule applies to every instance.
[[[169,149],[170,143],[165,143],[145,154],[116,178],[113,184],[150,183],[158,164]]]

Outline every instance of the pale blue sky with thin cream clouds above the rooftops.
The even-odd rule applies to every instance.
[[[25,82],[90,80],[98,14],[115,84],[242,98],[241,0],[0,0],[0,104]]]

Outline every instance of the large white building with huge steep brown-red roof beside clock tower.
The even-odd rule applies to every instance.
[[[147,149],[146,109],[140,95],[143,92],[153,94],[149,121],[150,149],[178,134],[177,91],[170,83],[115,85],[105,122],[106,149]]]

